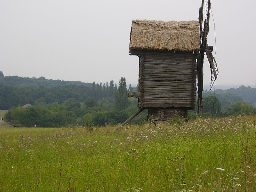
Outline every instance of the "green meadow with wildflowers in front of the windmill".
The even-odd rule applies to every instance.
[[[115,127],[0,124],[0,191],[255,192],[254,117]]]

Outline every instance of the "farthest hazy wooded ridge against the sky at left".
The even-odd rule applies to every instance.
[[[45,77],[39,78],[29,78],[29,77],[19,77],[19,76],[0,76],[0,84],[2,85],[13,85],[15,87],[31,87],[37,88],[39,86],[44,86],[47,88],[56,87],[61,85],[85,85],[92,87],[92,83],[82,83],[81,81],[62,81],[62,80],[52,80],[45,79]]]

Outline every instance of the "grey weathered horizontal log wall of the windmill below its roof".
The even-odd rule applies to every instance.
[[[195,110],[196,53],[140,51],[131,55],[139,56],[139,109]]]

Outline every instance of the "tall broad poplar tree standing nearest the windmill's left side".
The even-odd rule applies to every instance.
[[[119,87],[116,92],[116,108],[119,110],[124,110],[128,106],[128,91],[126,88],[125,78],[121,77],[119,80]]]

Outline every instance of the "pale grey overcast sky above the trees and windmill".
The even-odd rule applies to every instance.
[[[0,71],[88,83],[118,84],[125,77],[136,85],[138,57],[129,56],[132,20],[198,20],[200,6],[201,0],[0,0]],[[254,0],[212,0],[207,42],[216,51],[216,85],[254,87],[255,7]]]

